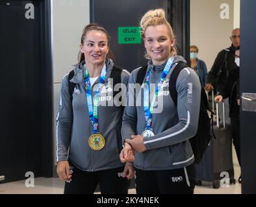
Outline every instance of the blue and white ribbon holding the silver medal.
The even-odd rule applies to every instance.
[[[159,83],[157,84],[157,87],[155,89],[155,94],[153,96],[153,100],[151,102],[151,105],[149,107],[149,87],[150,87],[150,70],[147,71],[146,74],[146,85],[144,87],[144,114],[145,114],[145,120],[146,120],[146,129],[151,129],[152,125],[152,113],[153,113],[153,107],[155,104],[155,100],[157,99],[157,96],[159,94],[160,87],[162,86],[162,83],[164,82],[164,79],[168,75],[170,69],[173,66],[173,60],[172,58],[169,58],[166,66],[164,67],[164,71],[162,71],[162,74],[159,79]]]

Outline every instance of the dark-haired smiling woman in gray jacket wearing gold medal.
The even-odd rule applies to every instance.
[[[84,27],[79,63],[64,76],[57,114],[57,173],[64,193],[127,193],[133,164],[119,160],[129,72],[113,63],[109,34]],[[120,90],[114,90],[114,86]],[[124,87],[126,88],[126,87]],[[116,94],[122,94],[122,100]],[[119,104],[118,104],[119,103]]]

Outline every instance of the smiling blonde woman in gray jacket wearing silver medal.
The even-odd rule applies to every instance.
[[[134,162],[138,194],[193,193],[194,154],[188,139],[196,135],[198,127],[199,78],[184,58],[177,56],[175,36],[164,10],[149,10],[140,27],[149,62],[129,78],[120,160]],[[175,105],[169,81],[177,65],[182,68]]]

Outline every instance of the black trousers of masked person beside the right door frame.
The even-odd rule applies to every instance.
[[[240,162],[240,119],[238,117],[231,116],[231,131],[233,137],[233,144],[235,146],[235,150],[237,153],[237,159],[239,165],[241,166]]]

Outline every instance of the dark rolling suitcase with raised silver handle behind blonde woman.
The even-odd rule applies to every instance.
[[[219,105],[223,107],[224,122],[219,122]],[[196,164],[196,184],[202,181],[212,182],[213,188],[220,187],[220,180],[229,179],[229,184],[235,184],[231,125],[225,124],[224,103],[216,103],[216,124],[213,125],[215,138],[211,139],[203,158]],[[213,136],[212,136],[213,137]]]

